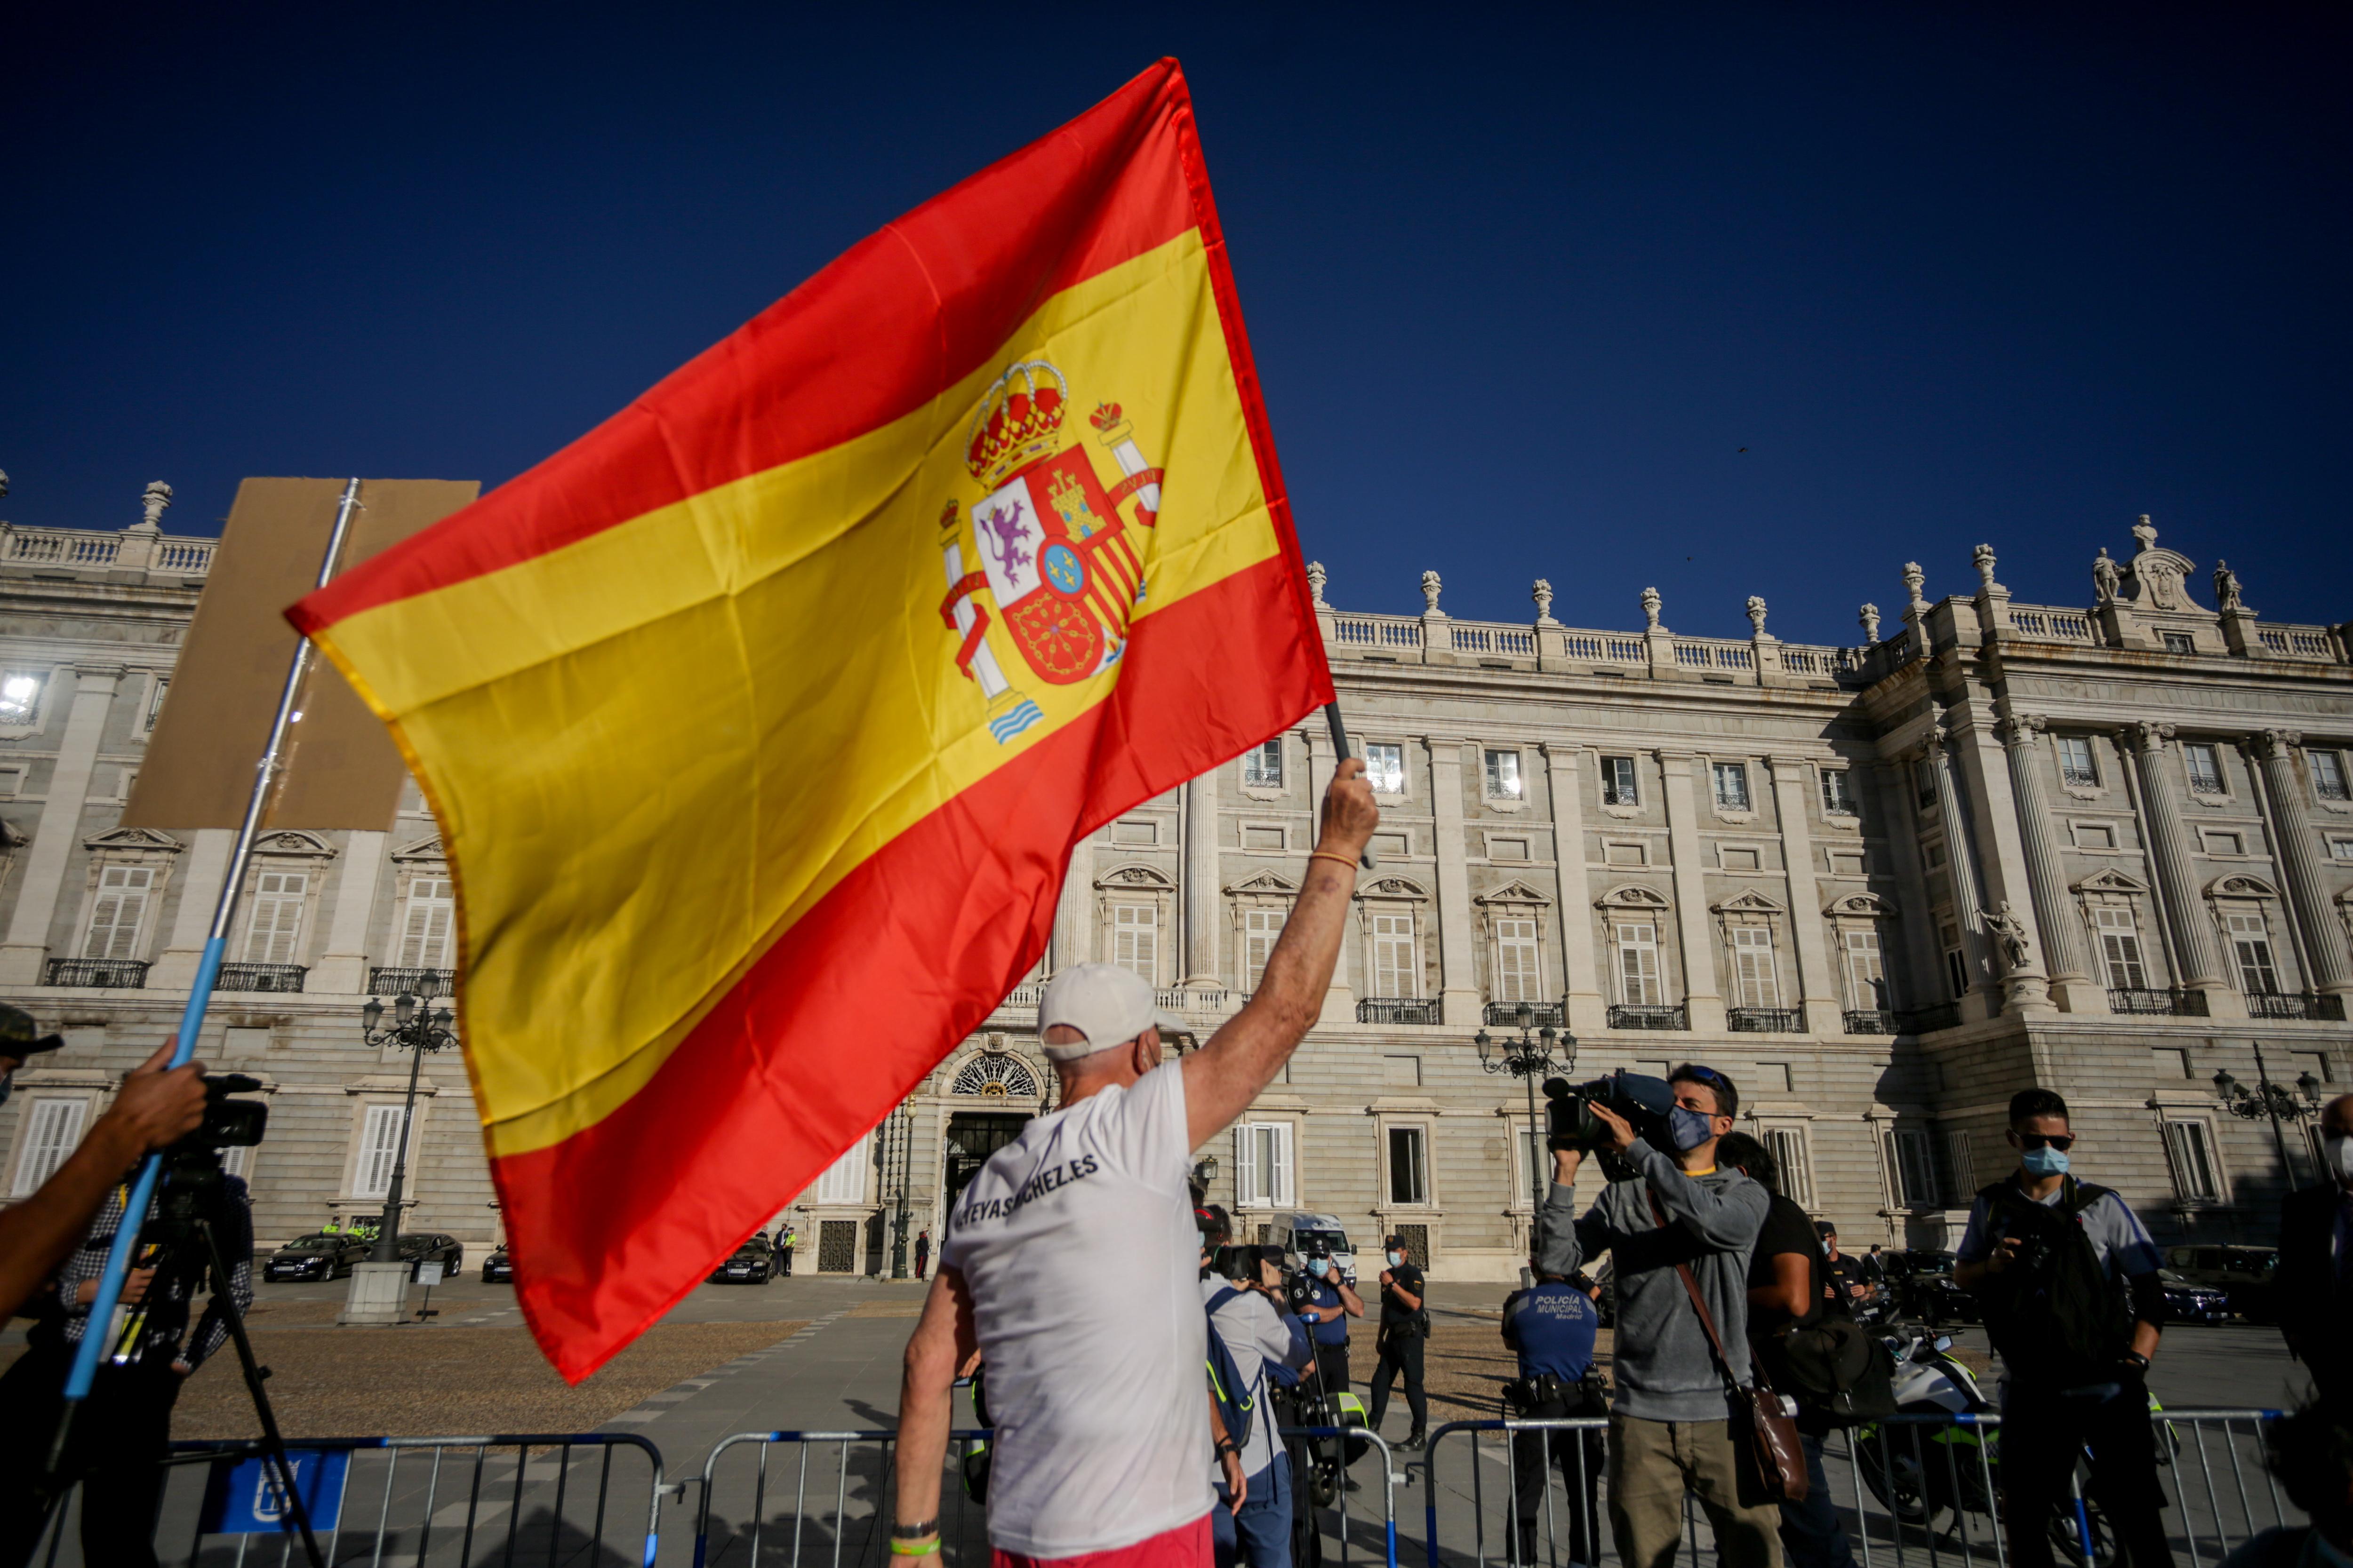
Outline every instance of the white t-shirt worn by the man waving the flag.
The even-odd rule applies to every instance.
[[[1209,1512],[1207,1321],[1184,1065],[1038,1117],[955,1204],[998,1439],[988,1540],[1078,1556]]]

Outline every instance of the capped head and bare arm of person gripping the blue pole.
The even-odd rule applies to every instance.
[[[40,1034],[33,1016],[0,1004],[0,1103],[16,1088],[16,1070],[64,1039]],[[89,1227],[106,1194],[141,1154],[195,1131],[205,1119],[205,1065],[165,1067],[172,1046],[146,1058],[122,1079],[115,1103],[82,1145],[28,1199],[0,1211],[0,1307],[7,1321],[42,1288]]]

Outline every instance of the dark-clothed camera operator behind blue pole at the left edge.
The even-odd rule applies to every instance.
[[[259,1088],[259,1081],[198,1079],[198,1088],[193,1131],[165,1147],[165,1178],[139,1229],[122,1302],[113,1321],[96,1328],[106,1335],[106,1352],[56,1472],[59,1483],[82,1483],[82,1559],[89,1563],[155,1563],[155,1507],[162,1500],[172,1406],[188,1373],[228,1342],[228,1314],[242,1314],[254,1302],[252,1199],[242,1180],[221,1173],[219,1150],[259,1143],[264,1107],[224,1107],[228,1093]],[[0,1568],[26,1561],[47,1523],[40,1481],[64,1408],[66,1371],[82,1335],[92,1333],[89,1305],[127,1204],[129,1180],[118,1180],[80,1248],[33,1300],[26,1354],[0,1375]],[[214,1295],[193,1331],[188,1316],[212,1274],[212,1251],[193,1251],[198,1237],[191,1220],[209,1227],[209,1241],[228,1267],[226,1300],[214,1279]]]

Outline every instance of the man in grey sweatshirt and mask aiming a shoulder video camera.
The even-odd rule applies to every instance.
[[[1673,1150],[1654,1150],[1624,1117],[1593,1107],[1609,1131],[1607,1150],[1633,1175],[1602,1187],[1584,1218],[1574,1218],[1569,1192],[1584,1150],[1553,1152],[1541,1267],[1574,1274],[1600,1253],[1617,1258],[1609,1530],[1626,1568],[1671,1568],[1685,1490],[1699,1497],[1715,1528],[1725,1568],[1781,1568],[1781,1509],[1734,1446],[1725,1396],[1727,1375],[1748,1382],[1748,1251],[1769,1197],[1739,1171],[1715,1168],[1715,1140],[1732,1131],[1739,1112],[1732,1079],[1687,1063],[1668,1084],[1675,1091]],[[1708,1347],[1678,1262],[1689,1265],[1729,1366]]]

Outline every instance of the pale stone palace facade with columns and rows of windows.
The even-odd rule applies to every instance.
[[[0,524],[0,997],[68,1039],[0,1110],[7,1197],[176,1025],[228,863],[226,830],[120,827],[212,559],[167,503]],[[1365,616],[1311,569],[1379,867],[1322,1020],[1200,1150],[1212,1199],[1511,1276],[1541,1164],[1504,1058],[1553,1030],[1572,1079],[1729,1072],[1857,1246],[1948,1246],[2028,1084],[2162,1237],[2266,1241],[2315,1173],[2308,1107],[2353,1088],[2353,628],[2261,621],[2219,564],[2132,536],[2089,607],[2014,602],[1984,545],[1965,592],[1906,564],[1857,646],[1781,642],[1762,599],[1746,639],[1685,637],[1649,590],[1640,628],[1574,630],[1541,581],[1532,621],[1457,621],[1435,574],[1421,616]],[[786,1211],[802,1267],[892,1269],[1052,1107],[1056,964],[1134,966],[1202,1037],[1231,1016],[1329,771],[1318,717],[1080,844],[1040,973]],[[384,1204],[409,1060],[360,1009],[447,994],[454,910],[414,788],[381,830],[264,835],[247,877],[200,1053],[266,1086],[238,1164],[268,1244]],[[424,1063],[407,1192],[407,1227],[496,1237],[449,1056]]]

